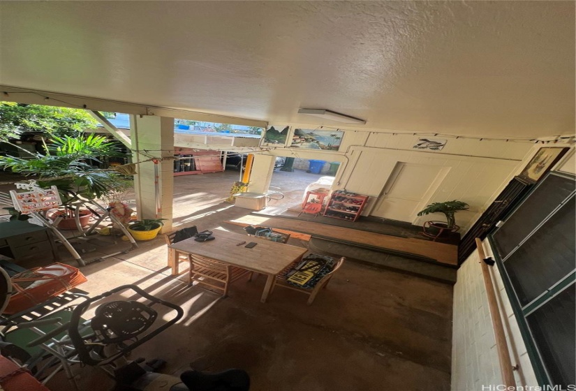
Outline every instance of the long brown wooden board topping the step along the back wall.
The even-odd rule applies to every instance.
[[[306,233],[313,237],[331,239],[338,242],[360,244],[375,249],[389,249],[400,253],[413,254],[436,260],[448,265],[458,265],[458,246],[431,242],[425,239],[413,237],[396,237],[372,233],[353,228],[344,228],[312,221],[295,219],[282,219],[269,216],[244,216],[230,223],[242,223],[252,226],[273,227],[275,230],[286,229],[300,233]]]

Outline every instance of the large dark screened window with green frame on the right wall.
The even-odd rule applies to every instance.
[[[499,270],[542,385],[576,383],[576,197],[550,172],[491,236]]]

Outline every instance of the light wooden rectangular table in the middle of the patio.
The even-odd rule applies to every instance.
[[[302,247],[290,246],[289,244],[272,242],[270,240],[248,237],[238,233],[224,230],[214,230],[216,238],[209,242],[196,242],[193,237],[171,244],[170,265],[172,274],[178,274],[178,253],[188,253],[217,260],[228,265],[242,267],[252,272],[266,274],[267,280],[262,293],[261,302],[266,299],[272,289],[274,278],[291,263],[302,258],[308,250]],[[240,242],[258,243],[251,249],[246,249],[246,244],[237,246]]]

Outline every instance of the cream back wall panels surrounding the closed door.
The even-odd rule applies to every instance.
[[[501,186],[509,182],[533,146],[511,141],[447,138],[441,151],[421,152],[412,148],[420,137],[376,132],[346,135],[346,145],[341,151],[346,152],[348,164],[341,173],[338,188],[374,197],[365,209],[364,214],[369,214],[397,163],[437,165],[445,168],[447,174],[436,191],[422,200],[421,206],[446,200],[467,202],[470,209],[456,215],[461,233],[465,233],[496,198]],[[420,225],[431,219],[443,220],[444,217],[414,215],[410,222]]]

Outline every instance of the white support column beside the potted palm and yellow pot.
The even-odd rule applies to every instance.
[[[131,116],[130,138],[133,163],[137,163],[134,188],[138,219],[165,219],[163,233],[172,230],[172,195],[174,193],[174,162],[159,161],[157,174],[149,157],[174,157],[174,119],[149,115]],[[147,151],[147,152],[145,152]],[[157,180],[156,180],[157,179]]]

